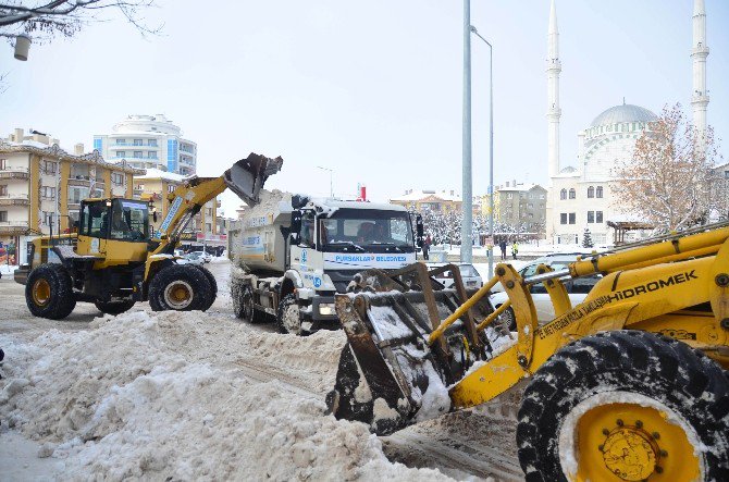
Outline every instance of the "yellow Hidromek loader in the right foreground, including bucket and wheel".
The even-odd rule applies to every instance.
[[[596,273],[571,306],[563,282]],[[528,481],[729,480],[729,223],[526,279],[498,264],[468,295],[457,276],[448,291],[433,274],[364,272],[336,297],[348,338],[328,395],[337,418],[387,434],[516,396]],[[496,283],[509,299],[494,310]],[[546,323],[535,285],[554,307]],[[517,333],[494,345],[509,307]]]

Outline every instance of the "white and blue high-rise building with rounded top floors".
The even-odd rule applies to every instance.
[[[94,136],[94,149],[110,162],[191,175],[197,171],[197,144],[164,114],[128,115],[109,134]]]

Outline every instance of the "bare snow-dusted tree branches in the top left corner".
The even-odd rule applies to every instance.
[[[100,22],[100,12],[116,10],[143,35],[157,34],[161,26],[145,24],[141,11],[155,0],[0,0],[0,37],[13,39],[20,34],[44,44],[60,37],[73,37],[82,27]]]

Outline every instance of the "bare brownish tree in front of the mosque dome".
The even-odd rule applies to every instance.
[[[635,143],[632,159],[617,164],[611,188],[621,210],[658,231],[680,231],[704,222],[714,209],[712,168],[718,159],[713,129],[702,136],[679,103],[666,106]]]

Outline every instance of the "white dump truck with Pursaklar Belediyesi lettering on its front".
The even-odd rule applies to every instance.
[[[400,206],[262,191],[228,232],[235,314],[281,333],[338,329],[334,295],[360,271],[413,263],[421,243],[422,222]]]

